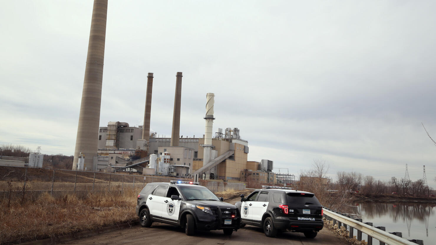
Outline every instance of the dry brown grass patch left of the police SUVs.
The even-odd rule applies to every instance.
[[[0,244],[24,242],[131,222],[140,190],[88,192],[85,196],[44,193],[35,201],[0,202]]]

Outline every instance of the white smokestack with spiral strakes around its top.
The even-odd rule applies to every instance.
[[[211,161],[211,150],[212,146],[212,126],[214,123],[214,103],[215,94],[206,94],[206,116],[204,120],[206,121],[206,127],[204,132],[204,145],[203,145],[203,166]]]

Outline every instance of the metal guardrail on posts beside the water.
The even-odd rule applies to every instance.
[[[357,239],[362,240],[362,233],[365,233],[368,235],[368,245],[372,245],[372,238],[377,239],[380,241],[380,245],[416,245],[420,244],[423,245],[424,243],[422,240],[408,240],[401,237],[401,232],[385,232],[385,227],[374,227],[372,226],[372,223],[363,223],[361,222],[361,219],[352,219],[347,216],[338,214],[334,211],[330,211],[326,208],[323,208],[324,210],[324,217],[328,217],[331,220],[333,220],[333,223],[338,223],[338,228],[341,227],[341,224],[348,225],[350,227],[350,238],[353,238],[354,236],[354,229],[358,230]],[[360,220],[360,221],[358,221]]]

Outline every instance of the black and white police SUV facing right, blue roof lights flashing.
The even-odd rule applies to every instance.
[[[222,229],[231,235],[241,225],[235,205],[218,199],[198,182],[189,181],[147,184],[138,195],[136,214],[143,227],[162,222],[183,227],[186,235],[194,235],[195,229]]]

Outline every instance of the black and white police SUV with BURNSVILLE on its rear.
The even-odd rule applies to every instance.
[[[289,187],[265,186],[236,202],[242,223],[263,228],[266,236],[278,231],[303,232],[314,238],[324,227],[323,209],[313,193],[295,191]]]

